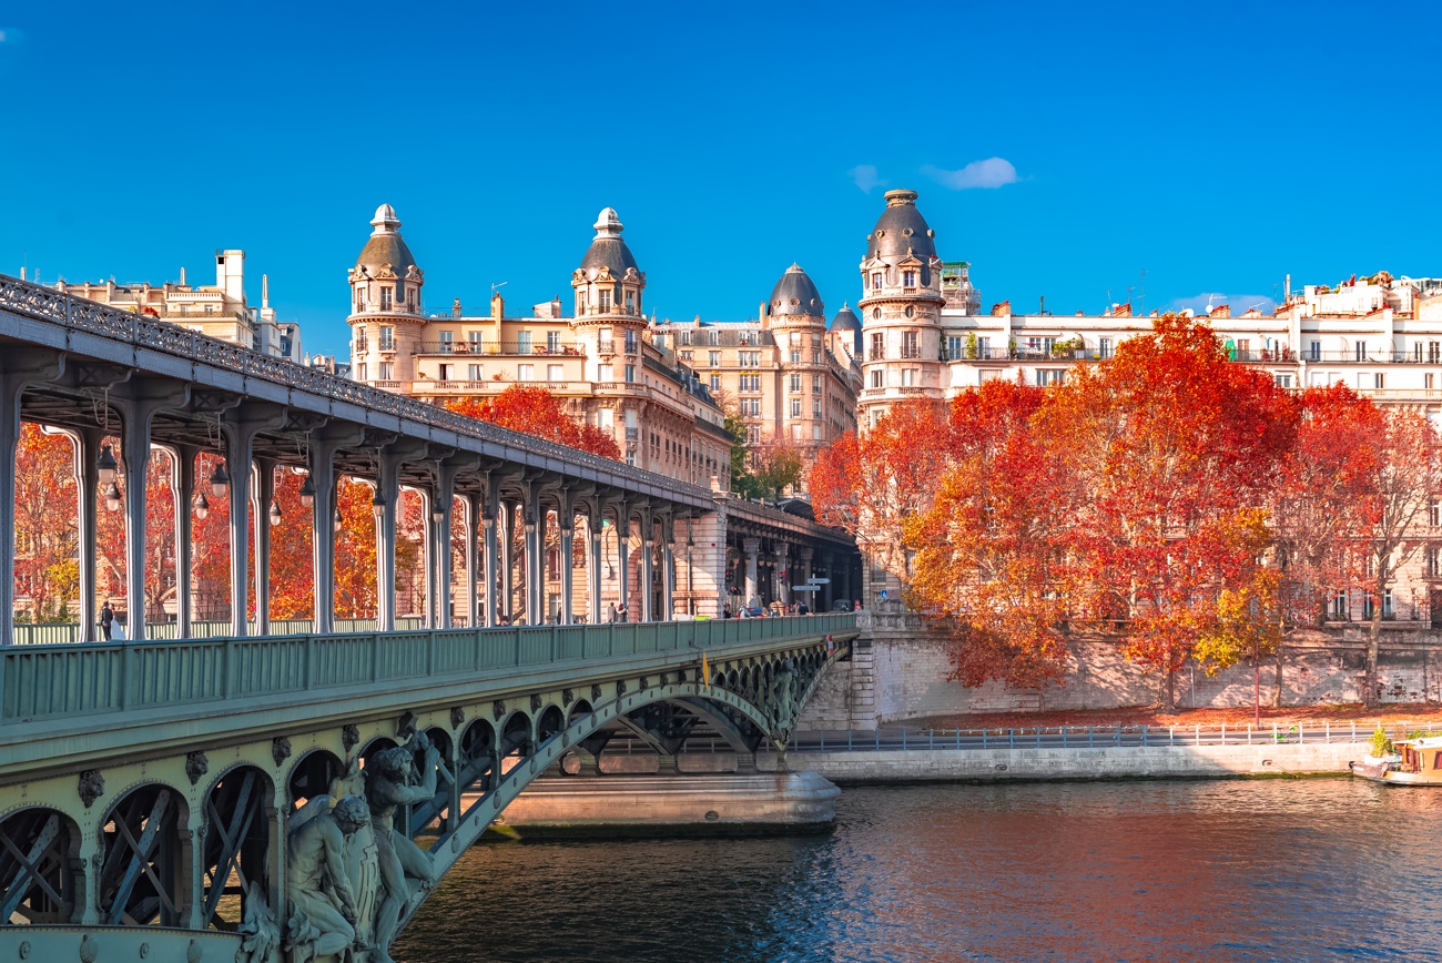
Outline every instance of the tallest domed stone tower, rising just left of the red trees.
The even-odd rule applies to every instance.
[[[867,431],[887,408],[911,396],[940,399],[942,261],[936,232],[916,208],[914,190],[888,190],[887,208],[867,235],[861,262],[865,378],[858,428]]]

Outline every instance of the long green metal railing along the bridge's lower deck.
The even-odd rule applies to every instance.
[[[518,626],[249,639],[12,646],[0,722],[91,715],[430,676],[600,662],[854,630],[851,613],[787,618]]]

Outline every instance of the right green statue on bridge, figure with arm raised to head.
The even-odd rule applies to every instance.
[[[365,770],[371,827],[375,830],[381,882],[385,888],[385,900],[375,924],[375,959],[379,963],[392,963],[391,940],[395,938],[401,913],[411,900],[410,881],[418,881],[420,889],[428,889],[435,884],[435,868],[430,855],[395,829],[398,806],[424,803],[435,797],[440,753],[424,734],[418,734],[411,745],[425,754],[420,781],[415,781],[415,757],[408,747],[376,753]]]

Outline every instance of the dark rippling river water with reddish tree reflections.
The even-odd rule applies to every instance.
[[[1442,790],[846,789],[823,836],[472,849],[397,944],[453,960],[1442,960]]]

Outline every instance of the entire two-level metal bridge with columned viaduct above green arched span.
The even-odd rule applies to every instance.
[[[754,770],[763,744],[784,753],[820,673],[857,633],[852,614],[698,617],[720,608],[728,556],[733,571],[744,558],[748,588],[763,552],[773,580],[848,578],[855,546],[835,531],[0,275],[0,445],[12,453],[23,421],[75,440],[81,611],[78,626],[17,637],[14,581],[0,578],[0,956],[10,959],[382,963],[435,879],[531,780],[567,757],[594,764],[617,737],[672,758],[724,742],[740,771]],[[130,640],[94,642],[108,437],[127,480],[146,477],[154,450],[172,454],[180,585],[198,456],[224,458],[229,626],[198,621],[177,591],[173,623],[138,617]],[[268,617],[260,522],[280,466],[314,486],[307,623]],[[375,486],[373,631],[333,611],[342,474]],[[402,487],[428,502],[434,565],[423,627],[398,631]],[[16,460],[0,458],[9,558],[14,493]],[[466,520],[454,616],[444,603],[453,510]],[[124,499],[124,512],[127,597],[141,600],[154,575],[146,499]],[[584,526],[590,624],[570,624],[570,565],[557,624],[542,624],[548,519],[562,559]],[[603,528],[617,552],[606,587]],[[678,569],[685,620],[671,620]],[[512,613],[518,575],[525,598]],[[640,621],[598,624],[607,597],[636,598]],[[502,627],[497,614],[528,624]]]

